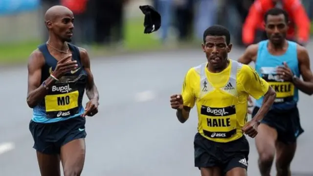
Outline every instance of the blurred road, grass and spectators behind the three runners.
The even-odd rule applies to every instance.
[[[264,39],[262,14],[269,1],[291,12],[289,37],[305,44],[312,57],[313,0],[0,0],[0,176],[40,175],[28,130],[26,62],[47,40],[44,14],[52,5],[68,5],[74,12],[73,43],[88,50],[100,92],[99,113],[86,124],[82,176],[199,176],[193,167],[196,111],[180,124],[169,97],[180,92],[190,67],[205,62],[201,42],[208,26],[230,30],[235,46],[229,57],[236,60],[247,44]],[[162,16],[161,28],[152,34],[143,33],[139,5],[146,4]],[[305,132],[292,176],[313,176],[310,104],[313,99],[300,93]],[[248,175],[259,176],[254,140],[248,140]]]

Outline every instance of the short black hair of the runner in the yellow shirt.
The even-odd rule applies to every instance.
[[[230,44],[230,33],[228,29],[222,25],[212,25],[208,27],[203,33],[203,43],[205,43],[206,36],[225,36],[226,44]]]

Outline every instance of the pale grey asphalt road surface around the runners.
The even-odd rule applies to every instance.
[[[235,48],[230,58],[237,59],[242,52]],[[309,52],[313,56],[313,50]],[[175,110],[170,108],[169,96],[180,92],[186,71],[204,61],[201,50],[92,60],[91,69],[100,92],[100,112],[87,120],[87,156],[82,175],[199,176],[193,157],[196,110],[192,110],[185,124],[180,124]],[[40,176],[28,131],[32,110],[25,101],[26,66],[2,70],[0,82],[0,176]],[[311,176],[312,104],[311,97],[300,94],[299,110],[305,133],[298,140],[291,165],[293,172]],[[259,176],[254,140],[249,142],[248,174]]]

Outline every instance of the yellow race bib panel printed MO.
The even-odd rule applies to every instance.
[[[45,111],[47,115],[54,114],[55,117],[65,117],[76,113],[78,96],[78,90],[63,94],[46,95]]]

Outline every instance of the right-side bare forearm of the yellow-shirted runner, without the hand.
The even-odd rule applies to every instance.
[[[276,98],[275,90],[272,87],[268,86],[268,91],[264,95],[262,106],[253,118],[255,121],[260,122],[264,118],[265,114],[268,113],[268,110],[274,103],[275,98]]]

